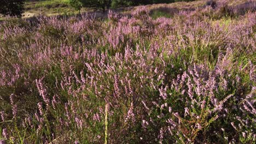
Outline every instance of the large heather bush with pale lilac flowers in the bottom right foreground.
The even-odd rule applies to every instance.
[[[223,60],[224,59],[225,58],[223,58]],[[238,90],[236,92],[235,90],[240,89],[235,88],[236,85],[239,85],[238,83],[241,80],[240,77],[236,76],[235,79],[238,81],[234,81],[234,79],[231,81],[229,77],[232,74],[226,73],[226,70],[219,71],[218,67],[223,66],[218,66],[218,64],[216,65],[216,70],[219,72],[215,70],[209,71],[204,67],[204,65],[194,65],[182,75],[178,75],[177,79],[173,79],[170,84],[166,84],[159,89],[161,96],[160,101],[162,102],[160,103],[160,101],[153,101],[151,105],[154,108],[149,110],[154,114],[155,112],[158,113],[158,115],[155,115],[157,117],[152,118],[154,119],[153,122],[149,118],[146,119],[144,123],[149,125],[146,127],[147,130],[152,129],[152,125],[154,124],[158,126],[162,125],[162,127],[155,127],[159,130],[158,134],[156,133],[155,135],[158,135],[160,142],[168,141],[169,143],[182,143],[195,141],[195,139],[197,139],[197,142],[228,142],[230,139],[235,141],[235,135],[240,131],[243,131],[242,126],[240,126],[240,128],[236,128],[238,126],[234,125],[234,123],[244,125],[241,117],[231,118],[228,116],[245,112],[245,109],[243,108],[244,105],[238,102],[239,99],[242,99],[240,93],[241,91]],[[224,73],[227,75],[225,76]],[[202,81],[206,83],[201,83]],[[228,86],[232,87],[227,89]],[[212,90],[209,89],[207,93],[205,93],[205,89],[208,88]],[[247,91],[250,92],[249,89]],[[243,97],[245,98],[246,95],[243,95]],[[179,105],[176,105],[177,103]],[[150,103],[147,105],[147,107],[149,107],[149,105]],[[234,105],[240,108],[237,109],[237,107],[234,107]],[[182,109],[184,110],[180,111]],[[232,112],[234,113],[231,114]],[[248,116],[250,115],[249,113]],[[154,116],[154,114],[152,115]],[[247,121],[249,121],[251,118],[248,118]],[[232,122],[226,123],[226,119],[229,119],[229,122]],[[214,129],[214,127],[216,127],[216,123],[223,123],[222,128]],[[253,125],[249,125],[247,126],[251,128],[253,127]],[[236,129],[237,132],[231,134],[231,129]],[[207,137],[209,134],[207,132],[208,130],[215,131],[211,138]],[[233,136],[226,136],[225,131],[229,131],[229,136]],[[247,133],[252,135],[253,132],[247,131]],[[220,137],[222,135],[223,137]],[[242,137],[241,132],[239,135],[241,136],[241,139],[246,139],[245,136]],[[246,141],[251,143],[253,142],[253,138],[250,137]]]

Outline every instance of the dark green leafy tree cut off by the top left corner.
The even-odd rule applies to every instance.
[[[0,14],[21,16],[24,11],[25,0],[1,0]]]

